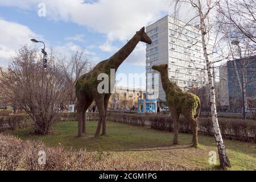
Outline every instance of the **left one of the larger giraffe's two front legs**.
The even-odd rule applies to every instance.
[[[105,118],[104,95],[103,96],[98,95],[94,98],[99,111],[99,121],[98,121],[98,126],[95,134],[95,137],[98,137],[100,136],[101,125],[102,125],[102,122],[104,122],[104,118]]]

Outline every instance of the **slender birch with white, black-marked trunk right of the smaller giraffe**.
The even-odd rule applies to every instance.
[[[214,137],[215,137],[217,148],[218,148],[218,156],[219,156],[220,165],[222,168],[231,167],[228,154],[226,153],[224,142],[222,140],[220,127],[218,125],[218,117],[217,117],[217,109],[216,109],[216,93],[214,89],[214,78],[213,78],[213,69],[212,69],[213,63],[209,59],[212,52],[208,52],[208,40],[209,40],[208,38],[209,38],[210,30],[213,27],[212,21],[209,17],[210,17],[210,14],[213,13],[212,11],[214,10],[214,6],[216,6],[219,1],[176,0],[173,2],[175,3],[175,13],[177,13],[178,9],[180,10],[181,7],[185,8],[187,7],[187,5],[190,5],[193,11],[195,11],[196,15],[188,23],[191,24],[192,20],[197,20],[200,23],[199,33],[201,35],[204,59],[205,59],[206,69],[208,74],[210,109],[211,109],[211,115],[212,115]]]

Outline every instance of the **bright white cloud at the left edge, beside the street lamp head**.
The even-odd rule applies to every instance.
[[[32,45],[31,38],[42,36],[36,34],[27,26],[15,22],[0,19],[0,65],[6,66],[10,57],[15,55],[20,46]]]

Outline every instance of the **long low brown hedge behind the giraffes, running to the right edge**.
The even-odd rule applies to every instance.
[[[86,113],[86,118],[90,121],[97,121],[97,113]],[[108,113],[108,121],[126,123],[134,126],[148,126],[152,129],[173,131],[173,119],[170,115],[142,115],[142,114],[121,114]],[[191,125],[187,119],[181,117],[180,133],[192,133]],[[222,138],[240,140],[242,142],[256,143],[256,122],[244,121],[243,119],[218,118]],[[199,134],[213,135],[213,124],[211,118],[199,118]]]

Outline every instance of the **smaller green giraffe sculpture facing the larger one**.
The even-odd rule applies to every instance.
[[[166,103],[170,108],[174,118],[174,144],[177,144],[177,134],[179,133],[179,117],[183,114],[193,129],[193,146],[197,146],[197,129],[200,113],[200,99],[192,93],[184,92],[169,80],[168,65],[155,65],[152,69],[160,72],[164,92],[166,93]],[[198,110],[198,112],[197,112]]]

